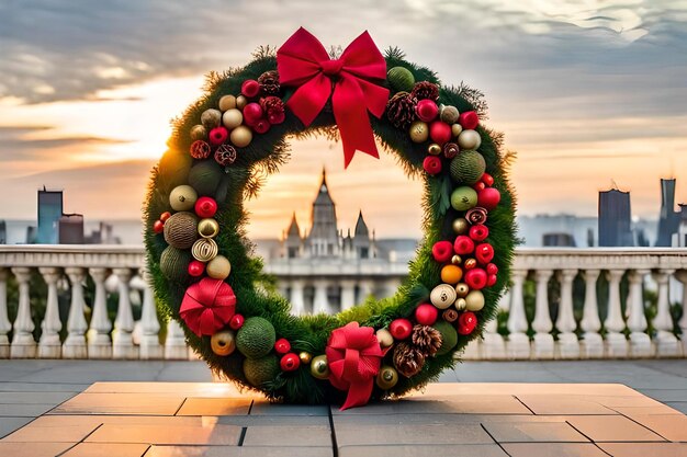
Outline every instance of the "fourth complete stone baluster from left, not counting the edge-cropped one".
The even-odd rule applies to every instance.
[[[110,339],[112,321],[108,316],[108,292],[105,289],[105,279],[110,275],[110,270],[97,267],[90,269],[89,273],[95,284],[95,298],[93,299],[91,328],[88,332],[88,357],[112,358],[112,340]]]

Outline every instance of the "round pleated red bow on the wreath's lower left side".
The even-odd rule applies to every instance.
[[[187,288],[179,315],[196,335],[212,335],[236,311],[236,295],[227,283],[204,277]]]

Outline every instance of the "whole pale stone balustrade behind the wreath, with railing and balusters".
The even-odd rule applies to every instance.
[[[0,247],[0,358],[194,357],[179,324],[158,319],[144,259],[142,247]],[[399,264],[354,261],[275,262],[267,271],[300,313],[336,312],[370,294],[391,295],[405,275]],[[686,249],[521,248],[499,302],[502,324],[489,322],[463,356],[686,356],[684,285]]]

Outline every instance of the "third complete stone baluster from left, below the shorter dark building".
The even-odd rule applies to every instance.
[[[83,299],[83,281],[86,269],[71,266],[65,270],[71,283],[71,301],[69,304],[69,317],[67,318],[67,339],[63,345],[63,357],[86,358],[88,346],[86,345],[86,331],[88,323],[83,316],[86,300]]]

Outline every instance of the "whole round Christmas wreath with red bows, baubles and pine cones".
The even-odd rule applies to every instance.
[[[481,93],[383,56],[365,32],[336,58],[301,28],[277,53],[211,75],[176,121],[145,204],[158,305],[218,374],[284,402],[393,398],[436,379],[496,312],[515,243],[502,137]],[[424,241],[397,293],[336,316],[290,313],[251,256],[244,201],[289,158],[286,137],[375,139],[425,184]]]

